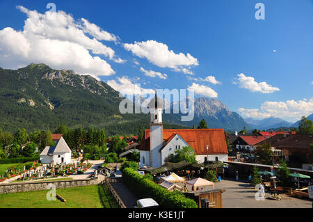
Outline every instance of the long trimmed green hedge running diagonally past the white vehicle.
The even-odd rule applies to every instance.
[[[153,198],[165,208],[198,208],[194,200],[186,198],[179,191],[168,191],[131,168],[122,171],[122,180],[138,198]]]

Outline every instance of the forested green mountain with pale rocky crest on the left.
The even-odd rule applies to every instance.
[[[0,129],[54,131],[61,124],[103,127],[107,134],[134,134],[149,127],[146,114],[121,114],[119,96],[108,84],[72,70],[31,64],[18,70],[0,68]],[[168,128],[181,125],[166,125]]]

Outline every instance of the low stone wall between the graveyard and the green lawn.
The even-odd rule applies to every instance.
[[[98,179],[83,180],[60,180],[60,181],[44,181],[44,182],[17,182],[11,184],[0,184],[0,193],[17,193],[27,191],[40,191],[47,189],[48,184],[54,184],[56,189],[70,187],[84,187],[99,184]]]

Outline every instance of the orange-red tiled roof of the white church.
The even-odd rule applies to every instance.
[[[206,145],[209,145],[209,154],[228,153],[224,129],[163,129],[163,139],[166,143],[173,137],[173,134],[179,134],[184,138],[195,150],[195,154],[208,154]],[[150,129],[145,129],[143,141],[138,150],[150,150]]]

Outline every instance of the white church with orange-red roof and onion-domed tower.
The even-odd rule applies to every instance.
[[[150,101],[150,129],[145,129],[138,148],[141,167],[158,168],[175,150],[188,145],[195,151],[198,162],[228,161],[224,129],[163,129],[162,104],[157,94]]]

